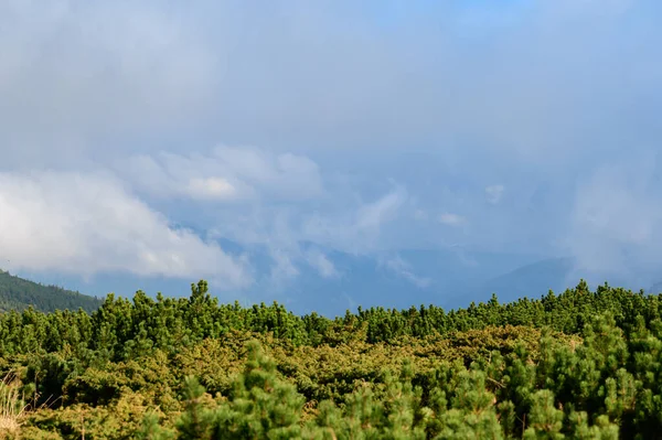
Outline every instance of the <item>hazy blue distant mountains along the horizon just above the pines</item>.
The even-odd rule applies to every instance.
[[[335,272],[320,273],[314,266],[298,266],[297,277],[275,282],[263,276],[242,292],[212,289],[222,301],[239,300],[244,304],[278,301],[296,313],[316,311],[328,316],[341,315],[359,305],[404,309],[435,304],[445,309],[466,308],[470,302],[485,302],[496,293],[500,302],[519,298],[538,298],[548,290],[564,291],[579,282],[570,258],[541,258],[535,255],[448,250],[405,249],[377,257],[356,256],[325,250]],[[252,249],[252,260],[260,273],[270,273],[271,258],[265,249]],[[32,279],[55,282],[86,293],[104,297],[109,291],[131,297],[138,289],[154,296],[186,297],[195,280],[140,279],[121,273],[81,281],[74,277],[24,273]],[[622,285],[623,280],[596,281],[626,286],[633,290],[647,286]],[[647,290],[656,292],[660,286]],[[108,287],[111,287],[108,290]]]

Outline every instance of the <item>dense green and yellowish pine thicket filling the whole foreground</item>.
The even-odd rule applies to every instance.
[[[6,439],[660,439],[662,296],[585,281],[299,316],[108,296],[0,313]]]

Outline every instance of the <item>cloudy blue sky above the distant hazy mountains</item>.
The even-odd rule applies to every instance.
[[[399,251],[462,248],[659,281],[660,19],[654,0],[3,1],[0,266],[239,296],[342,276],[332,251],[421,285]]]

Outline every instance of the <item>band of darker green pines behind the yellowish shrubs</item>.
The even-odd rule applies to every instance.
[[[600,286],[595,292],[580,281],[560,294],[523,298],[501,304],[488,302],[451,310],[429,305],[408,310],[359,308],[333,320],[317,313],[295,315],[278,303],[243,308],[220,304],[207,283],[192,285],[189,298],[148,297],[138,291],[132,301],[109,294],[92,314],[83,310],[41,313],[33,309],[0,315],[0,356],[52,353],[65,347],[94,351],[95,356],[120,361],[160,348],[172,353],[227,332],[271,333],[295,345],[337,345],[351,340],[391,342],[404,336],[426,337],[485,326],[526,325],[551,328],[566,334],[580,332],[596,314],[609,312],[616,324],[629,329],[637,316],[648,323],[659,319],[662,296],[649,296]]]

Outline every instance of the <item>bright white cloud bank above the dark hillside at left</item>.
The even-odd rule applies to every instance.
[[[0,249],[12,269],[250,282],[245,261],[170,227],[108,175],[0,173]]]

